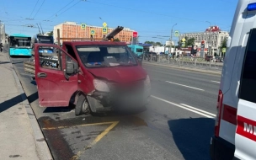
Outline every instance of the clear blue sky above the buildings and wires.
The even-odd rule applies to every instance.
[[[168,40],[173,24],[180,33],[204,31],[210,21],[229,31],[238,0],[0,0],[0,20],[7,34],[35,35],[65,21],[138,31],[140,42]],[[101,18],[101,19],[99,19]],[[29,20],[34,19],[34,20]],[[23,26],[24,25],[24,26]],[[160,36],[159,36],[160,35]],[[162,36],[162,37],[161,37]],[[153,38],[157,37],[157,38]],[[175,38],[174,38],[175,39]]]

